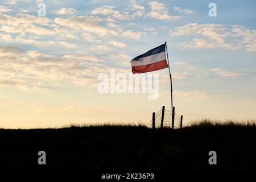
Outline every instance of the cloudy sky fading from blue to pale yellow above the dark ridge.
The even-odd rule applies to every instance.
[[[210,3],[217,16],[209,16]],[[46,5],[46,16],[39,16]],[[256,118],[255,1],[0,0],[0,127],[148,123],[159,97],[99,93],[98,75],[131,74],[133,57],[167,42],[184,123]],[[43,11],[40,11],[41,14]]]

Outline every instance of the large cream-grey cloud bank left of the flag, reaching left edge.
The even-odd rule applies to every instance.
[[[110,71],[93,55],[57,57],[17,46],[0,46],[0,85],[22,89],[54,88],[61,85],[93,87],[97,74]]]

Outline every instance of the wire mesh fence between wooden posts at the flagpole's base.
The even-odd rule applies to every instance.
[[[162,119],[162,109],[155,113],[155,128],[161,127],[161,119]],[[175,113],[174,115],[174,129],[180,128],[180,116]],[[148,123],[148,127],[152,127],[152,119]],[[172,111],[164,109],[164,121],[163,127],[172,127]]]

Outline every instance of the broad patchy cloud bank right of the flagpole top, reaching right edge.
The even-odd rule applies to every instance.
[[[224,24],[197,24],[189,23],[175,30],[170,30],[171,36],[188,35],[189,42],[181,43],[185,48],[225,48],[256,51],[256,30],[250,30],[243,26],[226,26]]]

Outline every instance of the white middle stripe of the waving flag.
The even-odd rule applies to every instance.
[[[166,59],[166,52],[160,52],[160,53],[156,53],[155,55],[142,57],[142,58],[138,59],[137,61],[132,60],[131,66],[134,67],[134,66],[152,64],[152,63],[156,63],[158,61],[162,61],[165,59]]]

